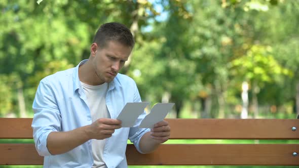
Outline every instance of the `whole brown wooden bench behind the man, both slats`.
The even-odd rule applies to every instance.
[[[32,139],[32,118],[0,118],[0,139]],[[299,140],[298,119],[167,119],[171,139]],[[297,130],[295,130],[295,128]],[[293,142],[293,141],[292,141]],[[154,153],[127,147],[129,165],[299,165],[299,143],[163,144]],[[39,165],[34,144],[0,144],[0,165]]]

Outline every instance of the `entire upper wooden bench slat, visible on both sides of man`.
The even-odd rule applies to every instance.
[[[166,120],[171,139],[299,139],[299,119]],[[31,139],[31,122],[32,118],[0,118],[0,138]]]

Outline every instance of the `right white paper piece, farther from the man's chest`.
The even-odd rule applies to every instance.
[[[139,128],[154,128],[154,124],[163,121],[174,103],[157,103],[141,121]]]

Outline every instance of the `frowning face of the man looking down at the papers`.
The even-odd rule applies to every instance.
[[[113,40],[108,41],[104,48],[95,43],[92,44],[92,65],[94,73],[98,77],[97,84],[101,85],[104,82],[112,81],[128,60],[130,53],[130,47]]]

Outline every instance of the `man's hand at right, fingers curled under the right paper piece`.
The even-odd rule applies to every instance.
[[[165,120],[157,122],[151,129],[151,137],[160,144],[166,142],[170,137],[168,122]]]

